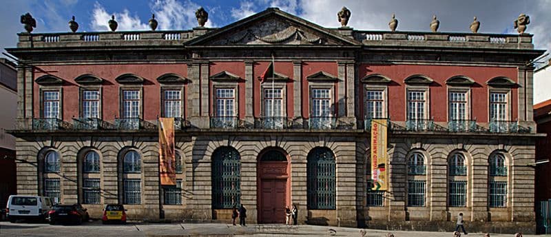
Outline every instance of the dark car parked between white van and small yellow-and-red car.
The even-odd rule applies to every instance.
[[[81,224],[83,221],[88,221],[87,209],[83,208],[80,204],[59,204],[55,205],[50,212],[48,212],[48,218],[50,225],[58,223],[74,223]]]

